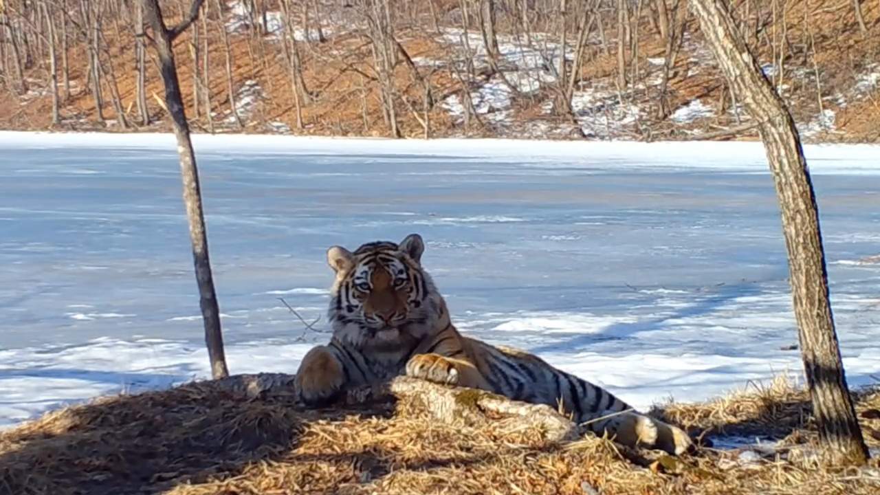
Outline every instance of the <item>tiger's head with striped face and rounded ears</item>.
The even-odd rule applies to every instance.
[[[334,336],[356,349],[389,352],[411,350],[436,331],[448,314],[422,270],[424,250],[415,233],[400,244],[368,242],[354,253],[327,249],[336,273],[328,311]]]

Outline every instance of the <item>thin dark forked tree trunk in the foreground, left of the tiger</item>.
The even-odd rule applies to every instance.
[[[177,26],[168,29],[162,18],[158,0],[142,0],[143,13],[153,32],[162,82],[165,84],[165,106],[172,119],[177,151],[180,155],[180,175],[183,179],[183,201],[187,206],[189,239],[193,245],[195,279],[199,285],[200,306],[205,328],[205,343],[211,364],[211,376],[217,380],[229,376],[224,354],[223,333],[220,329],[220,310],[214,292],[214,279],[208,255],[208,234],[202,211],[202,192],[199,187],[199,171],[195,164],[193,143],[189,137],[186,108],[180,94],[177,64],[174,62],[172,41],[186,30],[199,15],[202,0],[194,0],[189,15]],[[225,28],[225,26],[224,26]]]

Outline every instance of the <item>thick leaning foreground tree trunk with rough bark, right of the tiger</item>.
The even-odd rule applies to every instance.
[[[804,372],[819,436],[832,463],[864,464],[868,449],[840,361],[818,207],[795,122],[740,38],[727,0],[692,0],[691,6],[731,88],[759,124],[781,206]]]

